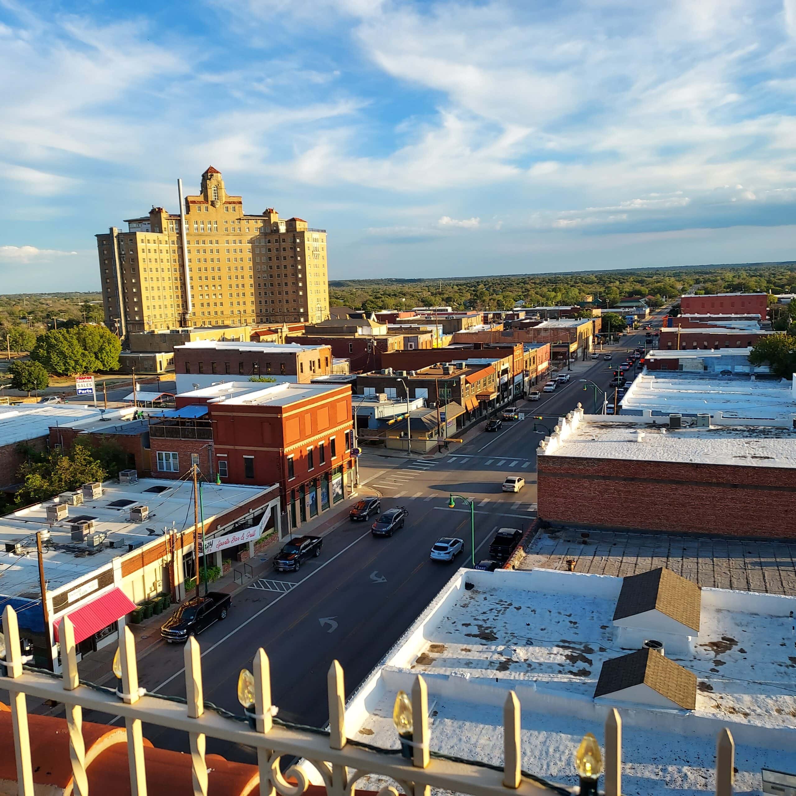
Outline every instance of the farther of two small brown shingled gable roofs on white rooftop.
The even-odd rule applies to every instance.
[[[698,633],[701,604],[700,587],[661,567],[622,579],[614,621],[657,610]]]

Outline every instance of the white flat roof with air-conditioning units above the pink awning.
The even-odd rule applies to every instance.
[[[205,523],[266,494],[273,487],[237,486],[232,484],[206,484],[202,489],[202,506]],[[193,527],[193,483],[141,478],[135,484],[105,482],[103,494],[83,505],[70,505],[68,517],[54,525],[47,520],[46,501],[28,506],[5,517],[0,517],[0,549],[5,544],[24,545],[20,556],[15,552],[0,552],[0,592],[4,595],[25,596],[39,591],[39,573],[36,556],[36,533],[49,530],[50,540],[45,544],[44,566],[48,588],[52,591],[72,580],[102,567],[114,558],[127,553],[127,547],[108,544],[123,540],[127,544],[147,544],[162,536],[172,525],[181,531]],[[145,522],[129,521],[130,509],[136,505],[149,507]],[[76,518],[95,521],[95,533],[107,533],[102,548],[89,552],[86,543],[73,542],[71,524]],[[150,533],[151,532],[151,533]]]

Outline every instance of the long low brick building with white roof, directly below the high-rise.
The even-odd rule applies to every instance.
[[[174,349],[177,392],[252,376],[309,383],[331,372],[332,351],[328,345],[201,340]]]

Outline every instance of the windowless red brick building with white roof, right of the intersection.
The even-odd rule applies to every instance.
[[[583,529],[796,539],[792,427],[668,423],[583,420],[573,412],[539,451],[540,519]]]

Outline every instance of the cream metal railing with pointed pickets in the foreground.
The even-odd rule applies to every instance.
[[[331,796],[353,796],[357,782],[369,775],[391,779],[406,796],[428,796],[430,788],[471,796],[571,796],[578,792],[568,786],[548,782],[521,770],[520,702],[511,691],[503,709],[503,765],[453,758],[431,751],[428,726],[428,692],[423,677],[412,687],[413,734],[409,758],[399,749],[381,749],[345,736],[345,689],[343,670],[338,661],[330,666],[326,678],[330,727],[316,730],[275,718],[271,704],[270,664],[265,651],[257,650],[253,662],[252,704],[236,716],[205,702],[199,643],[189,638],[184,648],[185,700],[168,699],[139,689],[135,639],[128,627],[119,634],[121,677],[114,690],[81,683],[77,671],[75,634],[67,618],[60,624],[63,675],[23,665],[17,615],[10,606],[3,613],[6,642],[5,662],[0,663],[0,688],[10,692],[17,763],[18,794],[33,796],[33,766],[30,755],[26,696],[63,702],[69,732],[69,757],[74,777],[74,793],[88,796],[86,755],[82,735],[83,708],[123,716],[127,728],[127,751],[131,792],[146,796],[146,772],[142,722],[189,734],[193,774],[193,793],[206,796],[208,770],[205,761],[207,736],[253,747],[257,751],[259,794],[300,796],[309,782],[302,767],[318,772]],[[604,793],[622,793],[622,720],[612,709],[605,725]],[[11,751],[2,750],[10,755]],[[731,796],[735,747],[727,729],[720,732],[716,755],[716,796]],[[283,774],[280,759],[295,756],[302,767],[290,767]],[[123,776],[121,772],[119,776]],[[295,784],[289,780],[295,780]],[[583,784],[583,781],[582,781]],[[596,793],[595,782],[591,790]],[[393,786],[384,786],[378,796],[398,796]]]

